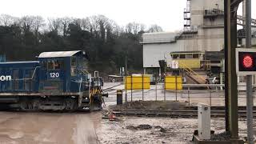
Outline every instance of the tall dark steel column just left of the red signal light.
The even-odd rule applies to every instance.
[[[231,138],[238,139],[238,81],[235,70],[235,48],[237,47],[237,0],[225,0],[225,105],[226,131]]]

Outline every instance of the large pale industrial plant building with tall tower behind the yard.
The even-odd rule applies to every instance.
[[[238,16],[238,22],[241,21],[243,21],[242,16]],[[256,24],[255,20],[253,20],[253,24]],[[238,25],[242,25],[242,22]],[[255,31],[254,29],[252,33],[255,35],[252,39],[254,44],[256,44]],[[240,30],[238,33],[240,46],[245,44],[244,36],[243,30]],[[210,56],[214,54],[220,54],[220,57],[218,60],[214,57],[210,65],[218,67],[217,71],[220,72],[223,67],[221,66],[223,65],[222,58],[224,58],[223,0],[187,0],[184,10],[184,29],[181,32],[146,33],[142,35],[141,43],[145,74],[161,74],[159,60],[166,60],[167,67],[172,67],[174,59],[180,61],[180,64],[181,60],[185,59],[190,62],[190,64],[186,63],[188,65],[186,67],[199,70],[206,67],[205,65],[209,65],[206,61],[210,61]],[[191,62],[192,59],[197,59],[199,63]],[[184,61],[182,62],[184,63]]]

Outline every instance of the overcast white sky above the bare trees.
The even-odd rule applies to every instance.
[[[186,0],[2,0],[0,14],[41,15],[43,18],[86,18],[103,14],[120,26],[140,22],[174,31],[182,30],[185,7]],[[255,8],[256,0],[252,0],[253,18],[256,18]]]

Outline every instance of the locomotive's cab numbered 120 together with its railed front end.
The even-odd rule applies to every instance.
[[[85,51],[44,52],[38,56],[40,66],[39,91],[46,94],[71,95],[78,106],[90,107],[102,103],[102,78],[87,72]]]

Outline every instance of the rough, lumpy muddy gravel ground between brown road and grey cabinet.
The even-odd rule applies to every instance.
[[[246,137],[245,119],[240,119],[238,125],[239,136]],[[225,130],[225,119],[212,118],[211,126],[215,134],[222,133]],[[121,122],[103,120],[102,130],[98,131],[98,138],[102,143],[111,144],[192,143],[192,136],[197,128],[197,118],[123,117]]]

